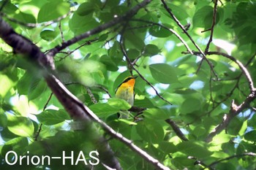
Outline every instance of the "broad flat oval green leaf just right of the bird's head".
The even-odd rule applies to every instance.
[[[166,63],[154,63],[149,65],[149,69],[154,80],[164,84],[178,82],[175,69]]]

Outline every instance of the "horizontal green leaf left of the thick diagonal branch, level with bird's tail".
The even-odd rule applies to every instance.
[[[45,125],[56,125],[65,120],[70,120],[70,117],[64,109],[47,109],[37,115],[37,119]]]

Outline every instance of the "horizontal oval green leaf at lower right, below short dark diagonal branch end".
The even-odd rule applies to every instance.
[[[195,158],[208,158],[213,153],[208,151],[206,144],[203,142],[186,141],[179,143],[177,147],[179,152],[184,152]]]

